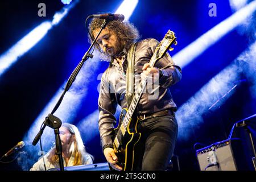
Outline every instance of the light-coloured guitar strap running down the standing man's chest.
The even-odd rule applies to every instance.
[[[135,62],[135,50],[137,43],[133,43],[127,54],[127,69],[126,69],[126,101],[127,108],[129,108],[134,96],[134,62]]]

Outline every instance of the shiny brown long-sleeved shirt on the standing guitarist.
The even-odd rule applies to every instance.
[[[135,52],[135,90],[138,86],[137,80],[140,79],[142,67],[148,63],[159,42],[155,39],[144,39],[137,43]],[[126,107],[126,51],[123,51],[122,67],[117,60],[110,62],[109,68],[101,77],[100,96],[98,98],[98,109],[100,111],[98,119],[98,129],[100,131],[102,147],[112,144],[111,133],[114,129],[116,119],[114,113],[117,104],[123,108]],[[162,59],[156,62],[155,67],[164,73],[159,79],[157,89],[158,97],[148,99],[149,96],[154,98],[155,93],[143,93],[137,106],[138,114],[155,113],[156,111],[173,109],[176,111],[176,104],[172,100],[169,86],[174,85],[181,79],[181,69],[172,61],[171,56],[167,53]],[[162,80],[162,82],[160,82]]]

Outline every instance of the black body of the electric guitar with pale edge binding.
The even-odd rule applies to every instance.
[[[121,114],[119,115],[118,127],[113,130],[112,137],[113,140],[114,138],[117,138],[119,141],[119,146],[116,146],[114,143],[115,154],[118,158],[117,164],[121,166],[124,171],[132,171],[134,164],[134,147],[139,142],[141,133],[137,132],[138,118],[131,118],[125,135],[118,134],[126,113],[127,109],[122,109]],[[110,170],[115,170],[110,165],[109,168]]]

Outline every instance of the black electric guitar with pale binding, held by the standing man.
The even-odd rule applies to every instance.
[[[168,30],[150,59],[151,67],[154,67],[156,61],[166,55],[168,49],[170,49],[170,51],[174,49],[171,47],[172,44],[177,44],[176,37],[174,32]],[[119,116],[118,127],[115,128],[112,133],[113,147],[118,158],[117,164],[123,168],[123,171],[133,170],[134,147],[141,138],[141,133],[137,132],[138,117],[134,114],[134,111],[141,99],[146,84],[147,80],[142,79],[134,93],[129,109],[122,109]],[[110,170],[114,170],[110,165],[109,168]]]

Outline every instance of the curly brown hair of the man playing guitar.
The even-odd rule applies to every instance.
[[[94,38],[94,31],[98,28],[101,28],[101,25],[104,23],[104,19],[93,18],[92,22],[89,24],[89,32],[92,38],[89,37],[89,42],[92,43]],[[114,20],[107,24],[106,28],[112,31],[116,36],[119,42],[121,42],[123,48],[127,50],[130,48],[131,44],[136,42],[140,36],[138,29],[130,22],[122,22],[120,20]],[[100,48],[100,45],[96,42],[95,44],[96,49],[101,53],[101,56],[106,59],[110,60],[109,55],[103,52]]]

